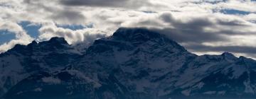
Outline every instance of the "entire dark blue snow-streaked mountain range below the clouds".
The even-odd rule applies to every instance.
[[[256,61],[198,56],[169,37],[119,28],[80,52],[61,37],[0,54],[3,99],[251,99]]]

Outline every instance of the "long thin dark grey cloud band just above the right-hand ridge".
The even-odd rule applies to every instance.
[[[193,50],[196,52],[233,52],[233,53],[246,53],[246,54],[256,54],[256,47],[247,46],[206,46],[191,44],[185,46],[188,50]]]

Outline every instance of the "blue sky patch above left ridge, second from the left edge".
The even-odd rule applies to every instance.
[[[39,29],[42,27],[42,25],[33,24],[29,21],[21,21],[21,23],[18,23],[21,25],[21,27],[26,30],[26,33],[30,35],[33,38],[37,38],[39,35]]]

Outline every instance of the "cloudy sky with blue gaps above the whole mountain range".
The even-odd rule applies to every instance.
[[[159,31],[196,54],[256,58],[255,0],[0,0],[0,52],[55,36],[91,43],[120,27]]]

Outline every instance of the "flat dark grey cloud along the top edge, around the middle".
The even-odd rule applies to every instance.
[[[149,5],[147,0],[60,0],[60,4],[66,6],[99,6],[99,7],[126,7],[137,8]]]

